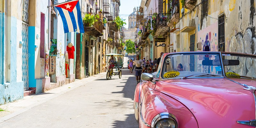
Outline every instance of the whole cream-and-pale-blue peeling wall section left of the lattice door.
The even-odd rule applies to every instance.
[[[17,69],[17,65],[20,65],[20,61],[17,58],[21,57],[19,54],[20,36],[18,35],[21,31],[21,15],[18,13],[20,12],[18,7],[20,3],[20,0],[5,1],[5,83],[0,85],[0,105],[23,98],[23,82],[17,82],[20,81],[20,79],[17,79],[17,72],[20,71],[20,69]]]

